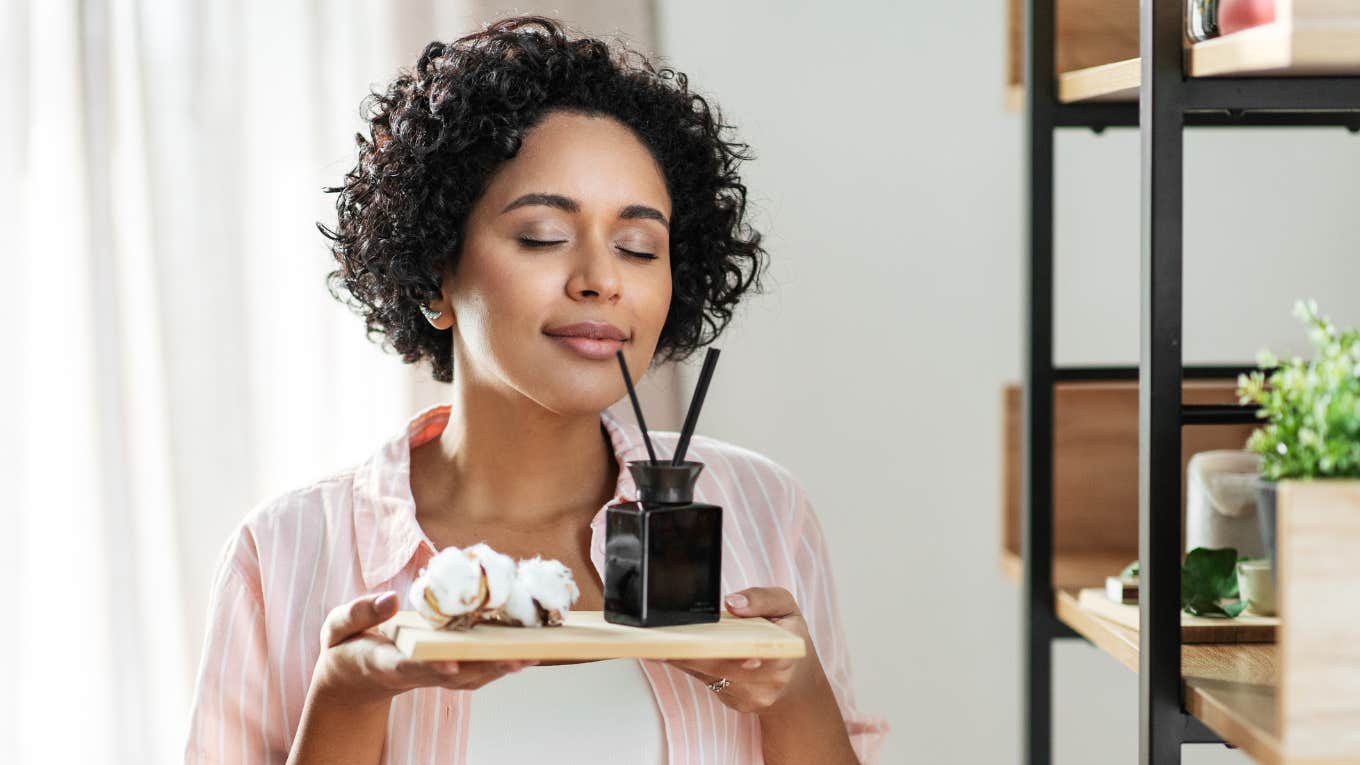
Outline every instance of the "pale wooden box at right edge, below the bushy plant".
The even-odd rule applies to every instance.
[[[1360,762],[1360,481],[1284,481],[1277,508],[1281,760]]]

